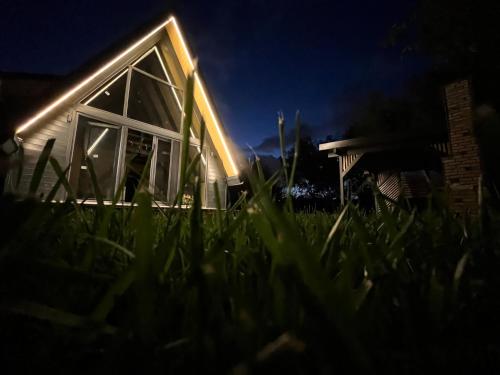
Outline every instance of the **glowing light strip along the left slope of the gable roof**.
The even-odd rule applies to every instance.
[[[114,63],[125,57],[128,53],[139,47],[144,41],[152,37],[155,33],[160,31],[162,28],[167,26],[170,22],[175,23],[175,18],[170,17],[168,20],[163,22],[161,25],[155,27],[149,34],[147,34],[145,37],[142,39],[138,40],[135,42],[132,46],[127,48],[125,51],[120,53],[118,56],[116,56],[113,60],[105,64],[103,67],[95,71],[93,74],[91,74],[89,77],[87,77],[85,80],[81,81],[79,84],[74,86],[72,89],[67,91],[64,95],[60,96],[58,99],[53,101],[51,104],[49,104],[47,107],[45,107],[43,110],[38,112],[36,115],[31,117],[29,120],[27,120],[24,124],[20,125],[16,129],[16,134],[22,133],[26,129],[28,129],[30,126],[32,126],[36,121],[40,120],[42,117],[46,116],[50,112],[52,112],[59,104],[63,103],[65,100],[71,97],[71,95],[75,94],[78,92],[81,88],[83,88],[85,85],[89,84],[93,79],[97,78],[100,74],[105,72],[107,69],[109,69]]]

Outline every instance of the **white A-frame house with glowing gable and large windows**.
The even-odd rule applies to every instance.
[[[17,188],[17,171],[9,173],[6,191],[28,192],[40,153],[47,140],[55,138],[52,156],[62,168],[69,166],[69,182],[78,199],[95,202],[88,173],[90,158],[107,201],[125,181],[120,200],[130,202],[139,188],[139,176],[149,169],[147,188],[154,199],[166,206],[172,204],[179,191],[184,87],[193,72],[195,104],[189,155],[201,154],[203,206],[216,206],[215,182],[225,205],[227,186],[238,183],[234,148],[174,17],[121,45],[118,52],[105,54],[97,64],[84,67],[71,84],[54,82],[51,77],[42,80],[57,94],[43,104],[37,102],[40,95],[35,95],[29,99],[37,102],[36,111],[30,113],[22,107],[20,116],[16,114],[22,118],[14,132],[24,150],[23,168]],[[34,77],[7,78],[4,89],[40,87],[33,82]],[[31,101],[27,98],[25,103]],[[202,119],[206,124],[203,149]],[[47,166],[37,193],[47,194],[57,180],[55,171]],[[61,188],[56,200],[64,200],[66,194]]]

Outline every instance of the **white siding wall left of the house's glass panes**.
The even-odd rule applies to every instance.
[[[68,166],[67,155],[70,151],[69,148],[71,147],[73,134],[71,123],[68,122],[70,114],[71,111],[66,110],[52,118],[52,120],[35,125],[33,129],[30,129],[26,131],[26,133],[22,134],[21,138],[23,140],[22,144],[24,148],[24,166],[19,188],[17,189],[19,194],[24,195],[28,193],[35,165],[40,157],[40,153],[49,139],[56,139],[51,155],[57,159],[63,170]],[[14,175],[15,174],[13,173],[11,181],[15,179]],[[48,164],[45,168],[37,194],[43,194],[43,196],[46,196],[56,182],[57,175],[52,166]],[[64,189],[61,188],[59,189],[55,199],[63,198]]]

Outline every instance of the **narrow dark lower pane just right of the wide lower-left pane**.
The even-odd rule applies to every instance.
[[[135,192],[140,189],[149,190],[149,154],[153,149],[153,136],[135,130],[129,130],[127,135],[127,151],[125,156],[125,201],[131,202]],[[143,183],[141,176],[144,173]]]

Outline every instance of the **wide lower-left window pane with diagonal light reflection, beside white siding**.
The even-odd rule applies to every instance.
[[[90,158],[104,199],[113,199],[119,138],[118,129],[97,120],[79,117],[70,177],[78,198],[95,198],[86,159]]]

